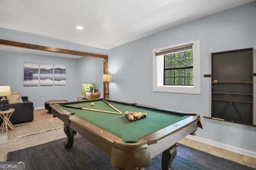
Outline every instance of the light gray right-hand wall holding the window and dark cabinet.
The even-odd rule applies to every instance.
[[[200,39],[201,94],[153,92],[152,50],[196,39]],[[204,74],[211,74],[211,53],[250,47],[254,48],[255,70],[256,1],[108,50],[109,72],[114,78],[110,83],[110,96],[116,100],[198,113],[204,127],[197,131],[198,137],[256,151],[256,127],[203,118],[211,116],[211,78],[204,78]],[[236,134],[230,133],[231,125],[236,126]]]

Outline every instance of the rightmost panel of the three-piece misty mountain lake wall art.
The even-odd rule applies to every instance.
[[[66,85],[66,65],[54,64],[54,85]]]

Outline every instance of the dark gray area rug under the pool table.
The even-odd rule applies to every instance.
[[[58,139],[9,152],[7,161],[26,162],[26,170],[114,170],[110,164],[110,157],[80,135],[75,136],[74,145],[70,149],[64,148],[65,140]],[[181,144],[177,148],[172,167],[175,170],[255,170]],[[152,159],[151,166],[145,168],[160,169],[161,154]]]

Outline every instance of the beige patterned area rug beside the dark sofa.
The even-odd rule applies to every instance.
[[[63,127],[63,122],[53,117],[46,109],[34,110],[34,120],[14,125],[15,129],[8,131],[8,140],[26,137]]]

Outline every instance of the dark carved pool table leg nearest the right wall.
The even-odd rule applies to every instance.
[[[178,147],[177,143],[162,153],[162,170],[174,170],[172,168],[172,160],[177,154],[176,147]]]

